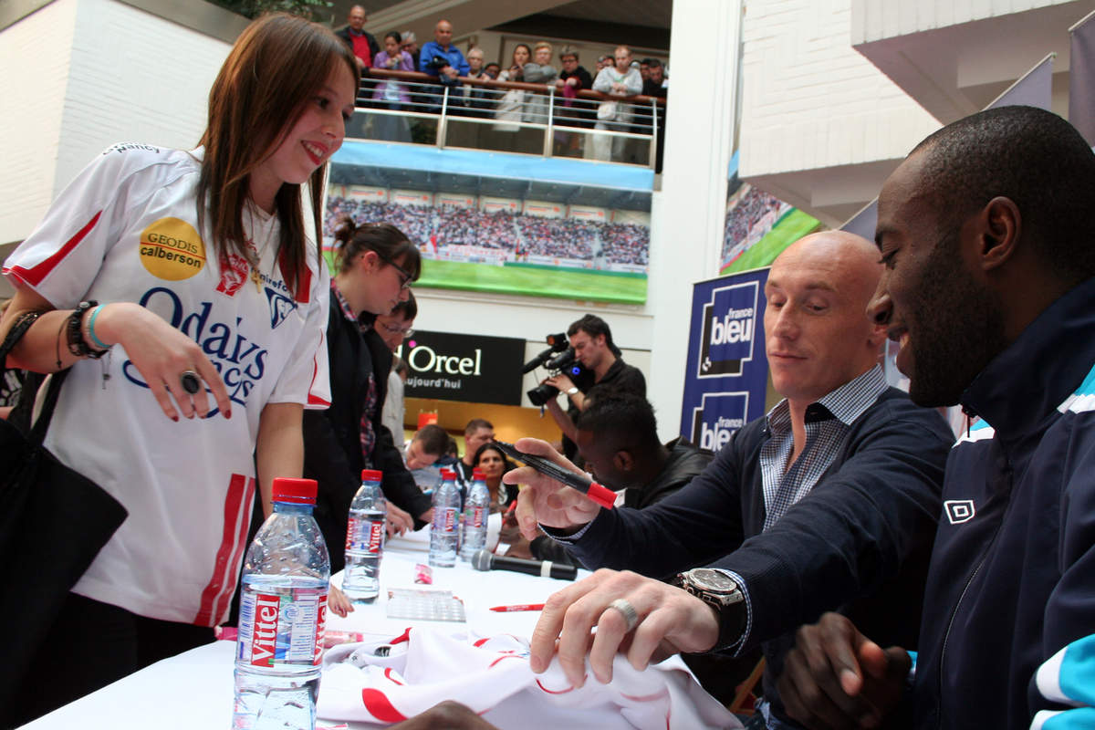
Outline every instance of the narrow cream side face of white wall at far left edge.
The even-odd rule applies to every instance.
[[[0,33],[0,243],[23,240],[54,198],[78,0],[57,0]]]

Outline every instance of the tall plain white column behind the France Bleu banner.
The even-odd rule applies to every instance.
[[[652,202],[647,398],[679,432],[692,285],[718,273],[737,104],[740,0],[676,0],[661,190]]]

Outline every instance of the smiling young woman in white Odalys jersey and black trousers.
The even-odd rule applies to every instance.
[[[4,263],[0,336],[36,317],[9,363],[70,369],[46,445],[128,511],[18,719],[210,641],[227,616],[256,480],[268,509],[273,479],[301,474],[303,409],[330,401],[315,241],[358,81],[330,30],[260,19],[214,83],[201,147],[108,149]]]

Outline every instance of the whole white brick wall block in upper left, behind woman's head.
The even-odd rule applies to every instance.
[[[228,49],[115,0],[56,0],[4,28],[0,243],[26,237],[113,143],[195,146]]]

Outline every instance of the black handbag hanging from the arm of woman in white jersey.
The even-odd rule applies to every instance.
[[[15,323],[0,345],[0,363],[34,320],[24,315]],[[23,675],[70,589],[127,515],[114,497],[42,445],[67,372],[49,379],[42,413],[28,430],[0,419],[0,565],[5,573],[0,605],[8,627],[0,727],[11,717]],[[33,389],[24,390],[21,406],[33,404],[34,396]]]

